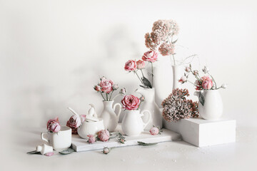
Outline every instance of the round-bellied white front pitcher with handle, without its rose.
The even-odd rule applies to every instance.
[[[141,118],[144,113],[148,113],[148,120],[146,123],[143,123]],[[150,120],[151,113],[149,110],[143,110],[141,113],[140,110],[126,110],[121,123],[121,128],[128,136],[137,136],[143,132],[143,129],[146,128],[146,125],[148,125]]]

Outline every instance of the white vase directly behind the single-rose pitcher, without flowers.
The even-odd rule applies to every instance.
[[[159,126],[162,128],[162,116],[161,111],[158,108],[158,105],[155,103],[155,89],[154,88],[138,88],[136,89],[136,93],[143,95],[145,100],[141,103],[141,110],[149,110],[151,113],[151,120],[146,125],[145,130],[150,130],[153,125]],[[148,121],[149,116],[143,115],[143,122],[146,123]]]

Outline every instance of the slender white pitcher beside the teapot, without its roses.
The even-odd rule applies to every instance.
[[[104,109],[100,117],[104,119],[104,128],[113,132],[118,125],[119,115],[121,114],[121,104],[116,103],[113,107],[114,101],[103,101],[103,103]],[[116,106],[119,107],[119,112],[117,114],[114,112]]]

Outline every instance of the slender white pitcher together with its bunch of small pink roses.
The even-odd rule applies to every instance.
[[[104,128],[108,129],[110,132],[113,132],[119,121],[119,115],[121,114],[121,104],[116,103],[114,104],[114,99],[118,95],[124,95],[126,93],[126,88],[121,88],[119,94],[113,96],[115,90],[118,90],[119,86],[114,84],[113,81],[107,79],[106,77],[100,78],[100,83],[94,86],[94,90],[101,94],[104,103],[104,109],[100,114],[100,117],[104,120]],[[115,109],[118,107],[119,112],[115,113]]]

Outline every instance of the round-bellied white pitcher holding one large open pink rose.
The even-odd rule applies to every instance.
[[[143,110],[142,112],[139,110],[142,100],[143,99],[140,100],[134,95],[125,95],[121,100],[123,108],[126,110],[121,123],[121,128],[128,136],[140,135],[151,120],[151,113],[149,110]],[[141,118],[144,113],[148,113],[148,120],[146,123],[144,123]]]

